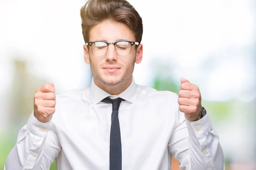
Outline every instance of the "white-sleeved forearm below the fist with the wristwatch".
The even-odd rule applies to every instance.
[[[186,124],[189,131],[189,154],[192,169],[223,170],[223,151],[218,133],[212,129],[208,114],[196,122],[186,120]]]

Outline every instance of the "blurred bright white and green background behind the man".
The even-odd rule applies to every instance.
[[[176,93],[182,77],[198,85],[226,170],[256,170],[256,1],[128,1],[144,26],[137,84]],[[84,3],[0,0],[0,169],[32,112],[36,88],[52,81],[58,94],[90,85]]]

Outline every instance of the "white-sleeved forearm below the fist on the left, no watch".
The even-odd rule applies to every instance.
[[[49,123],[41,123],[31,114],[27,125],[19,131],[17,143],[6,159],[6,170],[32,170],[35,165],[41,166],[49,129]]]

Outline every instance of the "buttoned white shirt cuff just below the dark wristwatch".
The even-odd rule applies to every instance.
[[[189,134],[196,136],[197,139],[206,133],[212,126],[208,113],[198,121],[189,121],[187,119],[185,120]]]

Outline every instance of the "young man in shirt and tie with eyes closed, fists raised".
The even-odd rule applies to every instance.
[[[137,85],[143,24],[125,0],[89,0],[81,8],[89,88],[55,96],[39,87],[34,111],[6,159],[6,170],[223,170],[223,152],[201,106],[198,86],[179,94]]]

